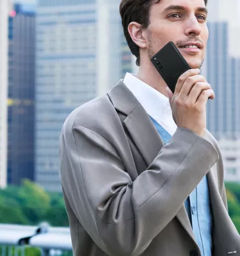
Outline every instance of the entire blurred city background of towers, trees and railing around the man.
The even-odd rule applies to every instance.
[[[120,0],[0,0],[0,255],[72,255],[58,141],[77,106],[136,72]],[[202,74],[240,232],[240,1],[209,0]],[[203,159],[204,161],[204,159]]]

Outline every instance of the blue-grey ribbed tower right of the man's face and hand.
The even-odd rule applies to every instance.
[[[206,72],[216,99],[209,100],[207,127],[220,139],[240,138],[240,58],[229,55],[228,22],[209,22]]]

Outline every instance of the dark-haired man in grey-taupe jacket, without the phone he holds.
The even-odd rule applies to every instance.
[[[220,148],[206,130],[206,103],[214,99],[199,74],[209,36],[206,4],[122,0],[139,72],[73,111],[61,133],[74,255],[240,255]],[[174,95],[150,62],[170,41],[192,68]]]

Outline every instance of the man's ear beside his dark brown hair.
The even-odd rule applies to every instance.
[[[142,49],[147,48],[145,29],[143,29],[138,22],[131,22],[128,26],[128,31],[132,41],[138,45],[138,47]]]

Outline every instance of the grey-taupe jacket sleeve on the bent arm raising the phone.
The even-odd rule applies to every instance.
[[[209,141],[178,128],[133,181],[100,134],[68,124],[61,132],[60,170],[68,202],[93,241],[111,256],[141,255],[216,161],[218,152]]]

